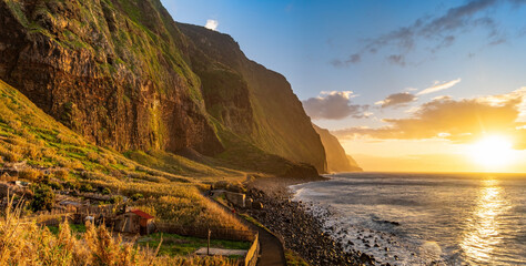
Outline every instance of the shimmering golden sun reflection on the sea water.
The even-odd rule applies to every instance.
[[[476,208],[468,218],[461,247],[469,262],[490,263],[492,253],[500,243],[499,215],[508,206],[503,198],[503,188],[497,180],[483,181]]]

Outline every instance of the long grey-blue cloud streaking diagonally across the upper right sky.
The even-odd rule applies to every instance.
[[[520,0],[469,0],[464,4],[449,8],[437,17],[425,16],[416,19],[406,27],[401,27],[385,34],[366,39],[365,43],[353,53],[354,58],[362,59],[365,53],[376,53],[380,50],[392,47],[399,51],[399,54],[392,54],[386,58],[391,63],[406,65],[404,55],[413,51],[421,41],[427,41],[431,45],[424,45],[429,52],[434,53],[455,43],[458,35],[466,32],[482,29],[486,31],[486,43],[488,45],[497,45],[507,41],[507,33],[492,18],[495,12],[492,9],[504,3],[518,6],[526,4]],[[517,32],[520,32],[518,30]],[[518,33],[519,35],[519,33]],[[333,60],[335,66],[348,66],[351,63],[358,61]]]

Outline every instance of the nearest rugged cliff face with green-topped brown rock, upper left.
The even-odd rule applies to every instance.
[[[119,150],[223,151],[156,0],[0,0],[0,79]]]

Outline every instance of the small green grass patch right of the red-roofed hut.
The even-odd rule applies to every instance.
[[[194,253],[201,247],[206,247],[208,241],[196,237],[186,237],[175,234],[153,234],[138,241],[140,246],[159,246],[159,255],[181,256]],[[211,239],[210,247],[225,249],[249,249],[249,242],[218,241]]]

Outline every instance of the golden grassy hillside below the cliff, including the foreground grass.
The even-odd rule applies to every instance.
[[[20,166],[13,168],[12,165]],[[244,177],[241,173],[223,172],[198,163],[184,163],[184,166],[193,176],[208,172],[226,180]],[[20,188],[11,184],[13,181],[29,185]],[[90,143],[0,80],[0,197],[6,203],[7,195],[16,195],[9,198],[10,204],[2,206],[0,242],[4,245],[0,247],[1,265],[151,265],[153,260],[155,265],[202,265],[205,262],[186,254],[155,256],[149,248],[140,249],[118,237],[113,239],[112,233],[103,226],[88,226],[85,234],[77,234],[64,223],[60,233],[53,235],[45,226],[27,222],[31,217],[52,219],[52,215],[39,212],[49,208],[59,212],[63,206],[59,202],[64,200],[90,204],[94,209],[111,206],[112,212],[118,212],[122,205],[114,207],[113,204],[119,206],[122,204],[119,198],[128,198],[128,206],[144,209],[160,222],[184,227],[246,229],[204,197],[202,190],[204,184],[196,178],[144,167],[114,151]],[[42,205],[41,191],[53,195],[47,207]],[[87,203],[88,196],[91,197]],[[101,200],[94,200],[94,196]],[[9,208],[14,206],[16,209]],[[91,215],[97,216],[97,213]],[[231,265],[220,257],[204,260]]]

